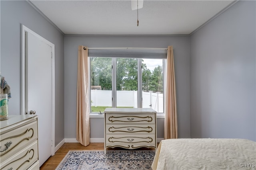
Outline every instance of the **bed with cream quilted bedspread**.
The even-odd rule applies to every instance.
[[[247,139],[166,139],[152,170],[256,169],[256,142]]]

